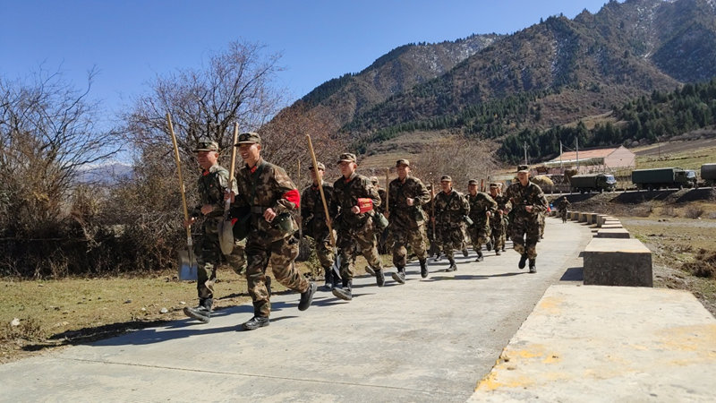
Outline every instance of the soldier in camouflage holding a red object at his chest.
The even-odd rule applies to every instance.
[[[378,286],[383,287],[386,281],[377,248],[378,229],[373,219],[373,209],[379,207],[380,197],[371,180],[355,172],[358,167],[355,161],[355,155],[351,153],[341,154],[338,158],[338,167],[343,176],[333,184],[331,209],[337,211],[342,281],[342,287],[333,287],[333,295],[345,301],[353,299],[354,257],[358,247],[375,271]]]

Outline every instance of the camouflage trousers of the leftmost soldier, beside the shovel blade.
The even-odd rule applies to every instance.
[[[201,236],[199,243],[194,244],[198,269],[196,289],[200,300],[214,297],[214,283],[217,280],[217,268],[222,256],[216,228],[214,223],[205,223],[204,235]],[[224,255],[226,262],[236,274],[242,274],[243,270],[246,270],[245,245],[245,240],[234,240],[234,250],[228,256]]]

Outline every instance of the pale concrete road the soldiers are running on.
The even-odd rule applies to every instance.
[[[271,324],[237,331],[251,305],[0,366],[2,401],[465,401],[547,287],[579,279],[588,227],[547,219],[538,272],[512,250],[484,262],[417,262],[405,285],[355,280],[354,300],[273,298]]]

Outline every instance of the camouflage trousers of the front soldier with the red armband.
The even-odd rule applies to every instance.
[[[246,281],[253,300],[254,315],[268,318],[271,313],[270,296],[266,289],[266,269],[269,262],[274,278],[282,286],[299,293],[308,289],[308,280],[294,265],[294,259],[298,256],[298,240],[294,236],[277,241],[250,236],[246,244],[246,255]]]

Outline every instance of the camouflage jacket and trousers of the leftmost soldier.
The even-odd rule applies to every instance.
[[[204,216],[204,222],[201,225],[200,242],[194,245],[194,253],[197,260],[197,292],[199,294],[199,304],[211,305],[214,297],[214,281],[217,279],[217,267],[221,260],[221,246],[218,242],[218,226],[224,219],[224,193],[228,188],[229,171],[225,167],[218,164],[204,170],[199,176],[197,187],[199,189],[200,204],[192,210],[192,217],[199,218],[201,214],[201,206],[209,204],[213,210]],[[231,190],[236,191],[236,181],[231,184]],[[234,251],[226,256],[226,260],[236,271],[241,273],[246,266],[243,256],[243,244],[234,241]]]

